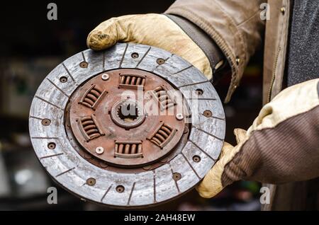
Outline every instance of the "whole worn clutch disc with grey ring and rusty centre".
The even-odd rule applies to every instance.
[[[146,207],[191,190],[225,137],[218,94],[181,57],[146,45],[85,50],[47,75],[29,116],[35,154],[69,192]]]

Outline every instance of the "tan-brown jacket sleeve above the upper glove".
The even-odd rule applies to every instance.
[[[225,102],[239,85],[247,62],[262,40],[262,0],[177,0],[165,13],[184,17],[205,31],[225,54],[232,79]]]

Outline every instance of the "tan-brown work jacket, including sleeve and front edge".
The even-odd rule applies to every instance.
[[[177,0],[166,13],[184,17],[205,31],[220,47],[232,69],[225,102],[239,86],[243,71],[264,38],[264,103],[282,90],[291,1],[268,0],[269,18],[262,20],[266,0]],[[292,197],[305,183],[269,185],[271,204],[263,209],[302,209]],[[299,192],[301,193],[301,192]],[[300,205],[300,204],[298,204]]]

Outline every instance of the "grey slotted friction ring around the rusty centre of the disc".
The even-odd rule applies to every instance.
[[[132,57],[134,52],[138,57]],[[158,64],[159,59],[164,62]],[[191,110],[188,142],[171,161],[151,171],[115,173],[91,165],[77,154],[63,126],[65,107],[74,90],[96,74],[119,68],[161,76],[179,88]],[[67,79],[62,82],[61,77]],[[198,98],[194,98],[196,90],[201,90]],[[210,117],[204,114],[206,110],[212,112]],[[50,123],[43,125],[43,120]],[[181,195],[208,173],[223,146],[225,115],[212,84],[181,57],[146,45],[117,44],[104,52],[85,50],[53,69],[35,93],[29,129],[40,163],[63,188],[100,204],[143,207]],[[49,143],[55,148],[49,149]],[[94,182],[88,184],[89,178]]]

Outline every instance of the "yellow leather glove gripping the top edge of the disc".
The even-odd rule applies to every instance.
[[[92,30],[86,40],[92,50],[103,50],[116,42],[162,48],[183,57],[211,79],[212,69],[206,54],[167,16],[144,14],[111,18]]]

